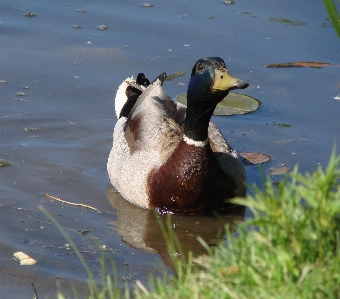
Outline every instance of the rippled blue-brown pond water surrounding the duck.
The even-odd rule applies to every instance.
[[[245,94],[262,105],[248,115],[213,117],[239,152],[271,156],[262,165],[313,171],[340,146],[340,43],[322,1],[22,1],[0,3],[0,298],[54,298],[84,293],[87,275],[43,206],[83,252],[101,279],[98,247],[115,262],[118,281],[147,285],[171,270],[154,215],[131,207],[106,173],[117,121],[113,100],[127,76],[189,71],[167,82],[172,97],[197,59],[219,56],[249,82]],[[32,15],[35,14],[35,15]],[[105,26],[102,26],[105,25]],[[107,27],[106,27],[107,26]],[[318,61],[322,68],[265,68],[268,63]],[[185,84],[183,84],[185,83]],[[260,184],[257,166],[248,182]],[[280,176],[272,176],[273,181]],[[95,207],[99,211],[62,203]],[[173,220],[185,250],[201,253],[222,223],[251,217],[235,209],[223,219]],[[91,231],[91,233],[88,233]],[[214,243],[215,242],[215,243]],[[21,266],[22,251],[37,260]]]

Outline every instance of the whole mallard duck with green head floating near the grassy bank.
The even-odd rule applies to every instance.
[[[118,88],[107,163],[112,185],[130,203],[162,212],[211,211],[245,196],[244,166],[210,118],[230,90],[248,83],[231,77],[219,57],[199,59],[186,107],[164,92],[165,77],[150,83],[139,74]]]

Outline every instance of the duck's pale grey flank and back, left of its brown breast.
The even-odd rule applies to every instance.
[[[157,80],[138,98],[129,117],[118,120],[107,167],[111,183],[129,202],[149,208],[146,178],[181,140],[185,110]]]

